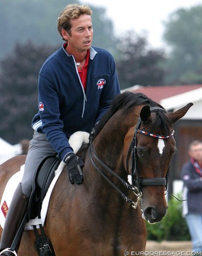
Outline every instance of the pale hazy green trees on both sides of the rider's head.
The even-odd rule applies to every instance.
[[[79,1],[73,1],[79,3]],[[9,53],[16,42],[61,45],[62,39],[57,31],[57,18],[66,0],[1,0],[0,1],[0,57]],[[106,9],[91,6],[94,26],[93,45],[114,52],[116,38],[113,23],[106,16]]]

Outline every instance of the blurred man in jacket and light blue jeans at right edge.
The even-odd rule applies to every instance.
[[[183,215],[189,228],[192,251],[202,252],[202,142],[189,145],[190,160],[182,167],[184,182]]]

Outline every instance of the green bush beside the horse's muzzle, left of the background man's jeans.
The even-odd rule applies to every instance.
[[[169,200],[169,209],[163,220],[154,225],[146,222],[146,226],[148,240],[190,240],[186,220],[182,217],[182,202],[177,201],[174,197]]]

